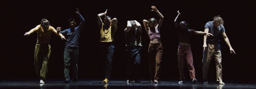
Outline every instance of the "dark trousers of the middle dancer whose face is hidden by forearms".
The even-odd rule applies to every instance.
[[[126,55],[128,80],[132,80],[133,74],[135,75],[134,79],[139,80],[141,46],[127,46]],[[133,72],[133,70],[135,70],[135,72]]]

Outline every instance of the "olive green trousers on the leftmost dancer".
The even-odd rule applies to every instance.
[[[44,81],[48,72],[50,54],[51,45],[49,43],[36,43],[34,54],[35,73],[41,80]]]

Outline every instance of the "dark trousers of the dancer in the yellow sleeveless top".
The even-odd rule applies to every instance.
[[[114,55],[114,45],[113,43],[103,43],[101,42],[99,45],[99,54],[102,65],[106,64],[106,68],[102,67],[102,70],[105,70],[105,78],[110,79],[111,76],[111,67],[112,67],[112,59]]]

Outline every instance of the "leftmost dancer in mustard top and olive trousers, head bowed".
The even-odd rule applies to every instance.
[[[24,36],[29,36],[30,34],[37,31],[37,42],[35,45],[34,53],[34,65],[36,75],[40,78],[40,83],[45,83],[46,75],[48,72],[48,62],[51,54],[51,33],[58,35],[62,40],[66,40],[65,37],[57,32],[49,23],[47,19],[42,19],[41,24],[37,25],[35,28],[26,32]]]

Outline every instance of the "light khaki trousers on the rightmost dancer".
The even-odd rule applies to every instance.
[[[215,60],[217,81],[222,80],[221,47],[219,43],[209,43],[203,52],[203,80],[207,80],[209,64],[211,59]]]

